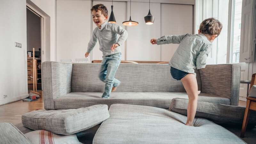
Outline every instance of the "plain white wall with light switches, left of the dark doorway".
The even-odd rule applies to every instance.
[[[0,105],[27,97],[26,0],[0,1]],[[22,48],[14,47],[14,42]],[[7,98],[3,98],[7,95]]]

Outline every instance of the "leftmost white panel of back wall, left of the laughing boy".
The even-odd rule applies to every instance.
[[[57,61],[84,58],[91,35],[91,2],[56,1]]]

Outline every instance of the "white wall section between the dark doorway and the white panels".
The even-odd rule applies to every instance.
[[[31,0],[36,6],[38,6],[41,10],[43,10],[46,14],[48,14],[51,17],[51,61],[56,61],[56,31],[55,31],[55,8],[56,8],[56,2],[55,0]]]

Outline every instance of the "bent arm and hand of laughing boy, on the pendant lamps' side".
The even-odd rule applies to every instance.
[[[127,37],[128,37],[128,32],[127,32],[124,28],[122,28],[121,26],[116,25],[116,24],[112,24],[111,29],[112,29],[112,31],[113,31],[114,33],[120,35],[120,37],[119,37],[119,38],[117,39],[117,41],[116,41],[116,44],[117,44],[117,45],[116,45],[116,44],[113,44],[112,47],[111,47],[111,50],[114,51],[114,49],[115,49],[117,46],[122,45],[122,44],[126,41],[126,39],[127,39]]]

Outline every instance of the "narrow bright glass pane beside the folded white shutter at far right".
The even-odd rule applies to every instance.
[[[242,0],[234,0],[232,10],[230,62],[237,63],[240,52]]]

